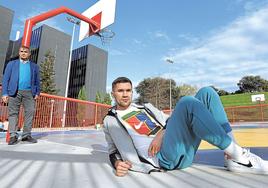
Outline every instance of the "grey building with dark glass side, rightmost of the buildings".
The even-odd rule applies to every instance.
[[[107,61],[108,52],[93,45],[73,50],[68,96],[77,98],[83,86],[90,101],[106,93]]]

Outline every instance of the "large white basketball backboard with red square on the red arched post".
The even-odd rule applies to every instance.
[[[116,0],[100,0],[85,10],[82,15],[99,23],[100,30],[102,30],[114,23],[115,5]],[[79,41],[93,34],[95,33],[90,31],[89,24],[82,21],[80,24]]]

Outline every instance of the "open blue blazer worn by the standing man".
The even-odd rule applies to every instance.
[[[20,60],[8,62],[2,81],[2,96],[16,96],[19,85]],[[39,66],[30,61],[31,89],[33,96],[40,95]]]

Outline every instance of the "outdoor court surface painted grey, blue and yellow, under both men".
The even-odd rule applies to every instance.
[[[237,141],[268,160],[268,123],[233,125]],[[232,173],[223,152],[203,142],[185,170],[116,177],[108,163],[101,130],[34,132],[37,144],[8,146],[0,134],[1,188],[74,187],[268,187],[268,175]]]

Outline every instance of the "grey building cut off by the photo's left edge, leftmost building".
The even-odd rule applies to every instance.
[[[5,65],[14,11],[0,5],[0,80]]]

